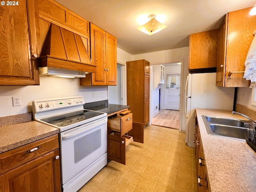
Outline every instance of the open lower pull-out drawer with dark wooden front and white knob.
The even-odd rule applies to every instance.
[[[133,138],[128,135],[121,136],[120,133],[108,133],[108,159],[118,163],[126,164],[126,146],[132,142]]]

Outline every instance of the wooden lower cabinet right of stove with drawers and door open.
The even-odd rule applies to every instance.
[[[126,164],[126,146],[144,142],[144,124],[132,122],[132,113],[108,117],[108,159]]]

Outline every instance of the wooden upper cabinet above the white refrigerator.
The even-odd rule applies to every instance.
[[[216,72],[217,52],[218,29],[191,34],[189,36],[189,72]]]

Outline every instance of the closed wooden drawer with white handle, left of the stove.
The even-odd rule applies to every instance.
[[[0,154],[0,174],[59,148],[58,134]],[[32,150],[32,151],[31,151]],[[31,152],[30,152],[31,151]]]

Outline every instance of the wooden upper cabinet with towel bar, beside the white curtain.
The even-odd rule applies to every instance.
[[[229,12],[219,28],[216,86],[247,87],[250,81],[243,78],[244,62],[256,29],[256,16],[250,8]],[[232,73],[229,78],[229,72]]]

